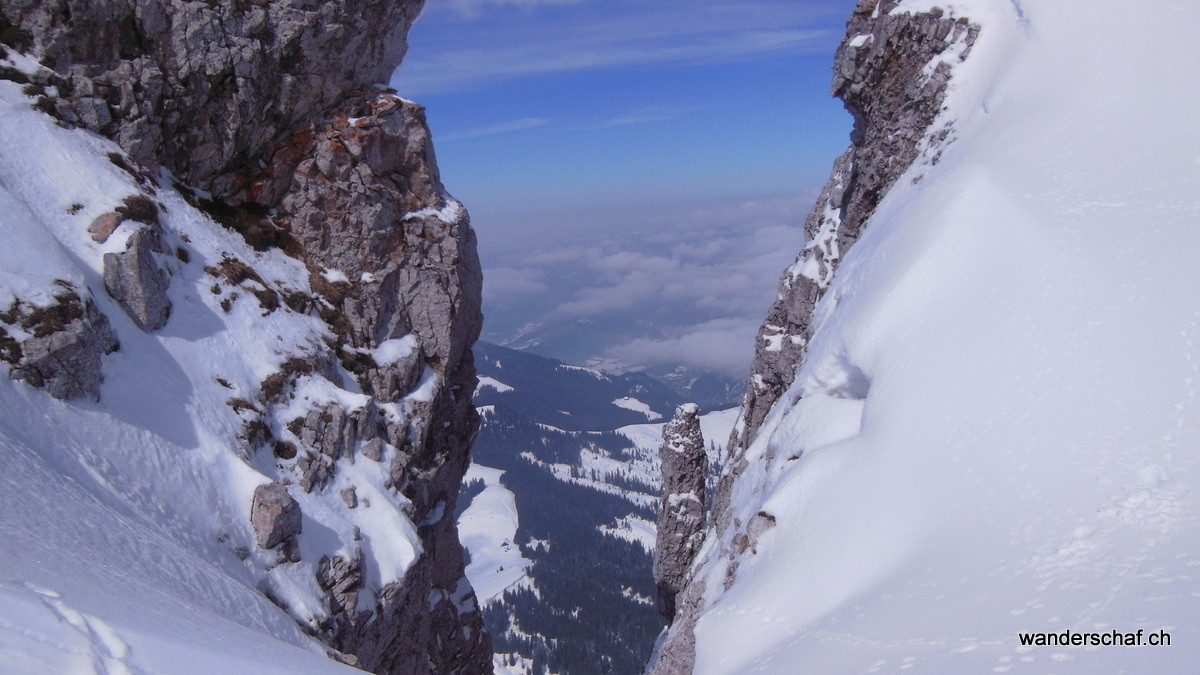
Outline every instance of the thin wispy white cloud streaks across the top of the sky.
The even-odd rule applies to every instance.
[[[577,4],[580,10],[532,11],[563,4]],[[463,0],[461,10],[478,17],[486,5],[529,11],[522,12],[521,20],[494,24],[463,22],[463,11],[433,14],[430,25],[419,30],[442,38],[431,41],[436,47],[409,53],[394,78],[396,85],[406,95],[422,95],[569,71],[727,62],[763,53],[814,50],[827,47],[832,37],[828,29],[810,28],[810,20],[827,13],[828,4],[818,0],[718,0],[698,5],[684,0],[610,0],[604,5]]]

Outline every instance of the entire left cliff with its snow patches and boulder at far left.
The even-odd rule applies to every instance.
[[[0,58],[12,65],[0,77],[60,127],[114,141],[108,160],[137,191],[90,219],[86,246],[108,251],[102,283],[85,270],[47,292],[13,289],[0,347],[11,377],[103,406],[104,358],[120,348],[109,298],[145,334],[204,317],[180,295],[188,283],[227,315],[257,305],[263,345],[281,322],[311,325],[302,350],[246,345],[270,354],[253,382],[216,378],[229,405],[204,414],[235,420],[235,452],[271,480],[242,504],[245,525],[226,526],[253,519],[260,587],[338,658],[475,673],[491,645],[445,516],[478,429],[475,238],[443,189],[424,110],[374,84],[398,65],[421,4],[6,0]],[[187,204],[168,214],[168,192]],[[241,243],[190,232],[179,209]],[[223,250],[192,259],[198,238]],[[356,462],[380,478],[347,473]],[[396,579],[372,567],[355,520],[368,483],[415,530]],[[344,513],[338,545],[305,543],[311,508]],[[307,572],[275,571],[288,566]],[[320,607],[283,599],[295,584],[314,586]]]

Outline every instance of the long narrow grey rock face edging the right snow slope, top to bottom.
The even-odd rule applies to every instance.
[[[860,0],[834,58],[832,92],[854,117],[851,147],[834,162],[805,221],[808,244],[784,271],[779,295],[758,329],[750,381],[707,533],[716,540],[707,555],[727,558],[727,580],[737,573],[738,557],[752,554],[757,536],[774,524],[767,513],[751,522],[732,521],[730,495],[748,466],[746,448],[804,360],[817,301],[892,185],[923,156],[936,163],[941,148],[953,141],[953,129],[940,126],[937,114],[952,66],[967,58],[978,26],[947,18],[938,8],[892,14],[896,5],[898,0]],[[706,589],[698,579],[686,585],[677,601],[678,616],[648,673],[691,671],[694,628],[709,591],[719,590]]]

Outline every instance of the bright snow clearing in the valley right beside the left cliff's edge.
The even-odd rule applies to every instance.
[[[498,599],[509,589],[530,587],[533,561],[521,555],[516,543],[516,497],[500,483],[499,468],[472,464],[463,483],[482,480],[484,491],[470,500],[458,518],[458,538],[470,554],[467,579],[480,604]]]

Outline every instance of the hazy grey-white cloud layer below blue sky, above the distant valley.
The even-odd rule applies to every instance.
[[[593,364],[740,377],[779,275],[803,244],[811,198],[661,204],[578,214],[570,225],[558,216],[565,240],[587,243],[485,243],[487,338],[587,322],[608,336]]]

